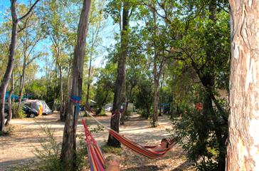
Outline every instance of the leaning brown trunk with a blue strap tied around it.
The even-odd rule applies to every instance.
[[[73,71],[71,75],[72,88],[71,96],[82,95],[83,81],[83,62],[85,57],[85,38],[88,31],[88,16],[90,11],[91,0],[83,1],[83,8],[80,14],[78,24],[78,38],[75,45]],[[61,149],[61,162],[65,170],[76,170],[76,128],[78,125],[78,113],[75,113],[75,104],[70,100],[68,104],[68,115],[65,119],[65,128],[63,132],[63,143]]]

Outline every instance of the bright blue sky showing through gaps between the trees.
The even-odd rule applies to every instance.
[[[28,4],[29,1],[26,0],[17,0],[17,3]],[[11,19],[11,14],[8,12],[10,8],[10,1],[9,0],[0,0],[0,23],[6,21],[6,19]],[[114,35],[115,32],[119,31],[119,26],[114,25],[112,23],[112,19],[107,19],[105,28],[100,31],[100,37],[102,37],[102,43],[100,47],[97,47],[101,51],[100,55],[94,56],[95,61],[93,61],[93,66],[95,67],[104,67],[105,62],[104,58],[107,56],[106,48],[115,44]],[[48,39],[45,41],[41,41],[38,43],[36,49],[44,49],[45,51],[49,51],[48,48],[50,47],[50,43]],[[50,56],[51,58],[51,56]],[[42,63],[42,61],[36,61],[37,63]],[[43,66],[40,66],[43,69]],[[36,77],[40,78],[43,76],[44,73],[39,69],[38,73],[36,73]]]

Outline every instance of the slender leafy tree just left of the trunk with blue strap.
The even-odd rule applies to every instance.
[[[71,46],[75,46],[75,32],[74,25],[78,24],[76,17],[78,16],[78,1],[44,1],[45,6],[41,8],[41,25],[43,31],[51,40],[51,51],[55,63],[55,75],[53,86],[53,110],[56,108],[56,103],[60,104],[60,120],[65,121],[65,86],[64,76],[65,71],[70,70],[70,55],[73,54]],[[70,7],[73,6],[73,7]],[[71,9],[70,9],[71,8]],[[73,10],[72,10],[73,8]]]

